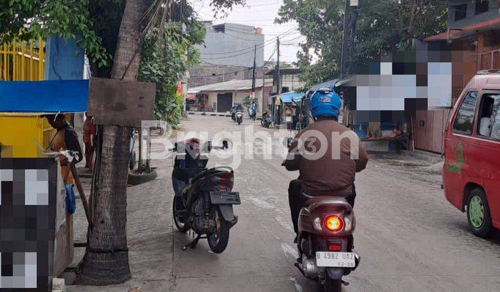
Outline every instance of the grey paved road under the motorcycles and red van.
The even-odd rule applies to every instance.
[[[276,131],[245,120],[240,127],[228,117],[190,116],[184,131]],[[158,145],[155,149],[160,149]],[[242,147],[235,149],[243,152]],[[229,163],[213,157],[209,165]],[[297,250],[288,207],[288,183],[282,158],[256,156],[235,170],[235,190],[242,204],[240,221],[231,229],[223,254],[182,251],[190,241],[172,225],[172,160],[153,161],[155,181],[128,189],[128,246],[133,279],[102,287],[106,291],[319,291],[315,282],[294,268]],[[362,261],[344,291],[499,291],[500,236],[476,238],[467,231],[465,215],[448,204],[440,175],[419,161],[372,158],[356,179],[356,250]],[[83,216],[79,221],[83,221]],[[85,225],[83,225],[85,227]],[[85,241],[85,228],[76,239]],[[80,251],[82,253],[83,251]],[[95,291],[72,286],[71,291]]]

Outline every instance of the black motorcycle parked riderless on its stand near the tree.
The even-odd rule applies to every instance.
[[[172,172],[174,186],[174,223],[180,232],[192,229],[197,234],[194,241],[185,245],[196,248],[202,238],[208,240],[210,250],[219,254],[226,250],[229,229],[238,222],[233,205],[241,204],[240,194],[232,191],[234,172],[230,167],[207,169],[206,154],[212,149],[228,149],[227,141],[222,146],[213,146],[191,138],[175,143],[172,152],[177,152]]]

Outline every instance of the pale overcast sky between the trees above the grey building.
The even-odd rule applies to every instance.
[[[190,2],[201,20],[212,20],[214,24],[231,22],[261,27],[265,35],[265,60],[271,57],[272,60],[276,60],[274,52],[278,35],[281,40],[281,60],[287,62],[297,60],[298,44],[303,39],[297,31],[297,23],[274,24],[278,10],[283,4],[282,0],[247,0],[247,6],[236,6],[227,17],[217,17],[217,19],[213,17],[210,0],[190,0]]]

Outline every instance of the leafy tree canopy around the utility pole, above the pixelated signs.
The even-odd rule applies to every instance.
[[[367,64],[390,51],[410,49],[411,39],[422,39],[445,31],[446,5],[431,0],[360,1],[354,65]],[[276,22],[291,20],[306,36],[297,65],[306,86],[340,75],[344,0],[284,0]],[[317,60],[313,58],[317,56]],[[313,61],[314,60],[314,61]]]

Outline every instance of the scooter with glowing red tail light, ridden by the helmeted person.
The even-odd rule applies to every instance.
[[[291,142],[288,137],[283,143],[290,146]],[[305,277],[317,280],[324,291],[340,291],[342,277],[360,263],[359,254],[353,251],[353,208],[344,197],[301,195],[307,201],[299,214],[299,258],[294,266]]]

